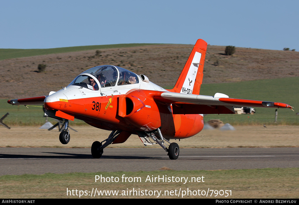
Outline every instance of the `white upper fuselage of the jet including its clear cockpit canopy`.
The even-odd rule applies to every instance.
[[[103,77],[101,75],[97,75],[97,73],[102,73],[103,68],[113,68],[110,69],[110,73],[106,72],[105,82],[103,83]],[[105,70],[104,70],[105,71]],[[115,82],[109,83],[108,81],[112,80],[112,75],[115,72]],[[116,74],[117,73],[117,74]],[[124,74],[124,76],[123,76]],[[130,84],[129,80],[123,80],[124,78],[129,79],[133,77],[128,77],[128,75],[131,75],[135,77],[135,83]],[[80,79],[82,78],[82,79]],[[96,90],[94,90],[94,87],[88,85],[87,79],[93,78],[97,86]],[[111,79],[110,79],[111,78]],[[76,79],[79,79],[76,80]],[[83,82],[85,81],[85,82]],[[101,81],[101,82],[100,82]],[[124,83],[121,83],[124,82]],[[92,89],[93,88],[93,89]],[[155,91],[167,91],[164,88],[161,88],[160,86],[150,82],[148,78],[144,75],[136,75],[135,73],[132,73],[130,71],[127,71],[123,68],[120,68],[118,66],[97,66],[94,68],[91,68],[80,75],[78,75],[67,87],[64,89],[57,91],[52,94],[52,92],[49,94],[48,97],[46,97],[45,102],[55,102],[60,100],[74,100],[74,99],[81,99],[81,98],[91,98],[91,97],[102,97],[102,96],[112,96],[112,95],[123,95],[126,94],[128,91],[132,89],[143,89],[143,90],[155,90]]]

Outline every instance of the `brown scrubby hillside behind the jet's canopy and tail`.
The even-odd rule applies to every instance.
[[[145,74],[153,83],[170,88],[192,48],[159,44],[100,49],[99,56],[95,56],[94,49],[1,60],[0,98],[47,95],[67,86],[86,69],[105,64]],[[224,50],[225,46],[208,45],[204,84],[299,76],[299,52],[236,48],[233,56],[225,56]],[[46,72],[36,72],[40,63],[47,65]]]

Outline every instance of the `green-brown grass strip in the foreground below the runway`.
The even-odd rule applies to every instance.
[[[151,172],[5,175],[0,176],[0,195],[1,198],[157,198],[158,192],[161,191],[158,198],[298,198],[298,172],[299,168],[174,171],[163,167],[159,171]],[[105,180],[110,182],[100,182],[100,180],[95,182],[96,175],[102,175]],[[162,182],[161,180],[158,182],[157,178],[156,182],[152,182],[152,179],[155,179],[152,177],[170,178],[167,178],[169,182]],[[191,182],[191,177],[193,177],[193,182]],[[187,182],[185,183],[186,178]],[[119,181],[111,182],[112,179]],[[125,180],[127,182],[123,182]],[[194,180],[197,181],[194,182]],[[118,191],[118,195],[110,193],[109,196],[99,196],[96,192],[94,196],[96,188],[98,192],[100,190]],[[134,196],[132,196],[133,188],[137,191]],[[67,189],[71,191],[67,192]],[[74,191],[72,192],[72,190]],[[77,190],[77,195],[75,190]],[[93,196],[91,197],[92,190]],[[147,194],[152,195],[145,195],[145,190],[147,190]],[[158,191],[155,192],[155,195],[154,190]],[[166,193],[169,193],[169,195],[165,196],[165,190],[168,191]],[[179,190],[180,195],[178,196]],[[188,190],[191,191],[189,196],[187,195]],[[218,192],[213,191],[212,193],[211,190],[217,190]],[[224,190],[224,192],[220,190]],[[225,197],[227,195],[225,190],[231,190],[231,192],[227,192],[229,193],[227,197]],[[127,196],[130,191],[131,196]],[[144,191],[144,195],[141,195],[141,191]],[[139,195],[136,196],[136,193],[139,193]],[[204,193],[205,196],[202,196]],[[216,195],[217,193],[218,195]],[[79,194],[82,196],[79,197]],[[185,195],[182,197],[182,194]]]

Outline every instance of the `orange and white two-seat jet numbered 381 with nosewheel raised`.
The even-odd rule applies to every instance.
[[[280,102],[229,98],[225,94],[199,95],[207,43],[199,39],[176,85],[166,90],[118,66],[97,66],[78,75],[60,91],[48,96],[8,100],[12,105],[43,105],[45,115],[65,122],[62,144],[70,141],[68,121],[80,119],[96,128],[112,131],[103,142],[91,145],[91,155],[100,158],[111,143],[123,143],[132,134],[144,145],[159,144],[170,159],[179,157],[184,139],[199,133],[204,114],[234,114],[234,106],[291,108]]]

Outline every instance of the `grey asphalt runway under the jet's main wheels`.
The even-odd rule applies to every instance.
[[[152,170],[227,170],[299,167],[299,147],[184,148],[170,160],[162,148],[0,148],[0,175]],[[166,168],[165,168],[166,167]]]

